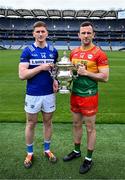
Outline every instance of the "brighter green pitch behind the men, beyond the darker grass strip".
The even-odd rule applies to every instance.
[[[62,51],[59,51],[62,56]],[[0,50],[0,122],[25,122],[25,81],[18,78],[21,51]],[[99,83],[97,123],[125,123],[125,52],[107,52],[110,80]],[[71,122],[70,94],[57,94],[54,122]],[[40,121],[40,116],[39,116]]]

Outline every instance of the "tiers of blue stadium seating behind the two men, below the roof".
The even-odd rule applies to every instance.
[[[10,18],[0,17],[0,47],[22,49],[33,42],[32,25],[43,20],[48,25],[48,41],[58,49],[73,49],[80,45],[79,26],[87,19]],[[125,47],[124,19],[89,19],[95,26],[94,42],[106,50]]]

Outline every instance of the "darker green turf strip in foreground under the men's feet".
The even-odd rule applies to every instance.
[[[42,128],[42,124],[38,123],[34,141],[34,165],[31,169],[25,169],[25,124],[0,124],[0,179],[125,179],[124,124],[97,124],[94,166],[84,175],[79,174],[79,167],[86,155],[85,126],[82,157],[66,163],[62,158],[73,149],[72,125],[53,125],[51,149],[58,157],[56,164],[48,162],[43,155]]]

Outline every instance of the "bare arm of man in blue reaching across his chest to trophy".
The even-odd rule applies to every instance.
[[[33,69],[29,68],[29,63],[20,63],[19,64],[19,78],[21,80],[30,79],[41,71],[48,71],[52,67],[51,63],[41,64]]]

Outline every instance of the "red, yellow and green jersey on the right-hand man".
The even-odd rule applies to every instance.
[[[108,67],[108,58],[99,47],[94,46],[83,50],[82,46],[74,49],[70,54],[72,64],[85,63],[87,71],[98,73],[100,68]],[[97,93],[97,81],[87,77],[78,76],[73,80],[72,92],[79,96],[93,96]]]

